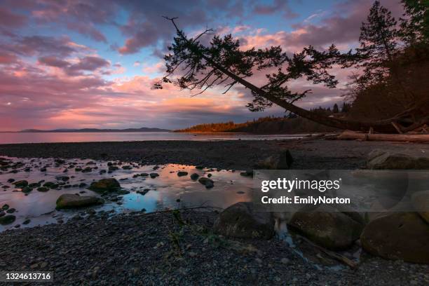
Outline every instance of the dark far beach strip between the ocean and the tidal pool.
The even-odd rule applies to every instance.
[[[0,156],[26,158],[91,158],[122,160],[147,165],[177,163],[203,165],[207,168],[250,169],[261,159],[289,149],[294,169],[347,170],[362,168],[367,154],[374,149],[390,151],[423,151],[428,144],[394,144],[388,142],[356,142],[311,140],[231,141],[142,141],[0,144]]]

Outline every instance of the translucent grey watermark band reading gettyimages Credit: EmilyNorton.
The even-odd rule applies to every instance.
[[[428,211],[414,201],[422,191],[429,191],[428,170],[254,170],[252,201],[269,212]]]

